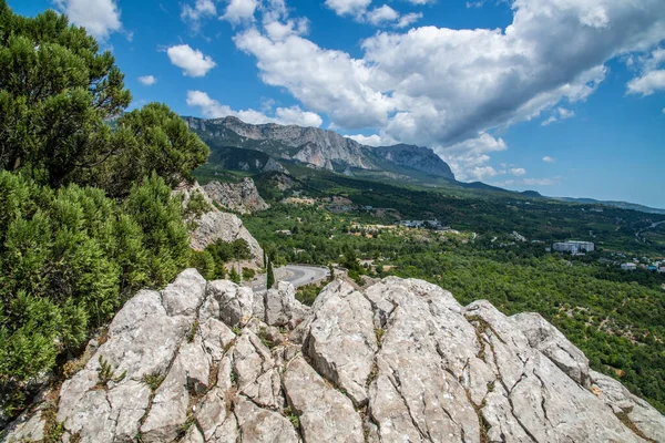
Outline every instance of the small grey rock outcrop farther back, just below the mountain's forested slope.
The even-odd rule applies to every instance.
[[[211,200],[239,214],[252,214],[270,207],[258,195],[254,181],[249,177],[241,183],[211,182],[203,189]]]

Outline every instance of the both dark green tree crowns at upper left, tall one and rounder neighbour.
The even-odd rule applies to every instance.
[[[190,179],[207,146],[166,105],[131,103],[110,51],[100,53],[64,14],[0,11],[0,169],[40,184],[94,185],[126,196],[156,172],[170,186]]]

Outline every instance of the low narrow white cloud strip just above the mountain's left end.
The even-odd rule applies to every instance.
[[[309,111],[303,111],[300,106],[277,107],[275,110],[274,117],[269,117],[265,113],[252,109],[234,111],[231,109],[231,106],[221,104],[202,91],[188,91],[187,105],[192,107],[200,107],[201,113],[208,119],[235,116],[241,119],[243,122],[252,124],[278,123],[285,125],[295,124],[298,126],[318,127],[324,122],[318,114]]]

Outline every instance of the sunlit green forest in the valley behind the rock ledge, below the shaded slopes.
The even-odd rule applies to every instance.
[[[386,220],[367,212],[336,215],[323,205],[276,203],[244,222],[278,262],[341,264],[359,280],[419,278],[450,290],[462,305],[487,299],[505,315],[540,312],[584,351],[592,368],[665,412],[661,275],[601,264],[603,253],[572,258],[548,254],[542,244],[510,245],[507,236],[500,247],[501,240],[491,241],[494,233],[472,239],[469,231],[377,227]],[[318,290],[304,288],[299,297],[311,302]]]

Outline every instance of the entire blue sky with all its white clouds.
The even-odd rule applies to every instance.
[[[663,0],[8,0],[110,50],[132,107],[429,146],[458,179],[665,208]]]

